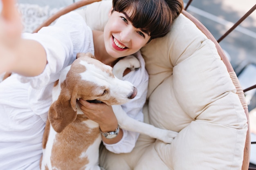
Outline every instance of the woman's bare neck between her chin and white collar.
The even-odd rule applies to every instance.
[[[103,31],[92,30],[93,43],[94,43],[94,55],[97,60],[104,64],[114,66],[118,59],[110,56],[105,48]]]

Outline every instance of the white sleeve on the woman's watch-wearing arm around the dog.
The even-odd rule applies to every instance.
[[[137,95],[130,102],[121,105],[128,116],[143,121],[142,108],[146,102],[146,95],[148,89],[148,73],[145,69],[145,62],[140,52],[134,54],[140,61],[141,68],[139,70],[130,72],[124,76],[124,80],[131,82],[137,88]],[[103,144],[106,148],[114,153],[128,153],[135,147],[135,143],[139,137],[139,133],[123,130],[123,138],[116,144]]]

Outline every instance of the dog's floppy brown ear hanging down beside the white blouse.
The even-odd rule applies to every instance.
[[[65,81],[63,82],[65,83]],[[76,119],[76,97],[67,89],[61,89],[61,94],[49,108],[48,118],[56,132],[62,130]]]

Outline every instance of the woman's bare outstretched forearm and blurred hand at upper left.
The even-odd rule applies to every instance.
[[[0,73],[16,72],[35,76],[47,63],[42,45],[21,38],[22,24],[15,0],[2,0],[0,15]]]

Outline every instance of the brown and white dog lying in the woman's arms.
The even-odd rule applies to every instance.
[[[155,128],[130,118],[121,108],[137,94],[137,89],[120,80],[126,68],[139,68],[133,56],[119,60],[112,68],[90,53],[79,53],[61,73],[52,92],[43,135],[41,170],[100,170],[98,166],[101,134],[99,124],[85,117],[76,100],[99,100],[113,106],[121,128],[144,133],[171,143],[177,132]]]

